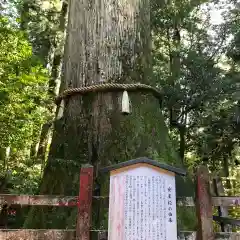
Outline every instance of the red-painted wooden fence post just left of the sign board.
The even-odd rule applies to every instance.
[[[80,172],[78,217],[76,228],[77,240],[90,240],[92,191],[93,191],[93,167],[87,164],[82,166]]]

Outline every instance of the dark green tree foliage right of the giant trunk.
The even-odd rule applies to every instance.
[[[163,7],[153,1],[153,80],[165,93],[164,115],[169,126],[169,113],[174,109],[176,124],[170,135],[179,143],[179,150],[184,150],[190,177],[203,163],[224,176],[226,168],[235,167],[234,149],[239,148],[239,10],[215,1],[214,7],[223,4],[225,12],[224,22],[213,26],[210,1],[204,1],[205,10],[204,2],[180,2]],[[180,140],[181,129],[185,130],[184,140]],[[179,188],[183,185],[185,194],[191,192],[187,182],[177,181]],[[194,225],[191,211],[187,216],[179,211],[182,229],[188,229],[189,222]]]

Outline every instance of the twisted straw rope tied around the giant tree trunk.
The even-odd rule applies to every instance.
[[[98,84],[92,85],[87,87],[80,87],[80,88],[70,88],[63,91],[55,100],[56,104],[59,104],[62,99],[70,97],[76,94],[85,94],[90,92],[110,92],[110,91],[147,91],[151,92],[156,98],[159,100],[162,99],[162,93],[160,90],[141,83],[133,83],[133,84],[119,84],[119,83],[105,83],[105,84]]]

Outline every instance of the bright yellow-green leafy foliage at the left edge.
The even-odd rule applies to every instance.
[[[0,145],[23,147],[49,115],[46,70],[23,32],[0,19]]]

